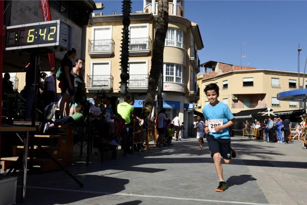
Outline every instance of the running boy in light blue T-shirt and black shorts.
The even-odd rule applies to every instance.
[[[207,134],[208,146],[211,157],[214,160],[217,176],[220,183],[215,191],[226,190],[226,181],[223,177],[222,160],[229,164],[231,157],[235,158],[235,150],[230,147],[229,127],[235,122],[235,118],[228,106],[218,101],[219,87],[215,83],[210,83],[204,89],[209,104],[203,108],[205,120],[205,133]]]

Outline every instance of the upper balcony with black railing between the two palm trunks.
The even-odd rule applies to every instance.
[[[150,38],[130,38],[129,55],[130,56],[144,56],[151,51]]]

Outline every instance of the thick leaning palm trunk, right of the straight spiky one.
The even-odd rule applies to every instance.
[[[167,0],[158,1],[157,29],[153,43],[153,55],[151,59],[151,69],[148,79],[148,91],[145,100],[145,108],[152,112],[155,105],[157,86],[160,73],[163,71],[163,51],[165,38],[169,23],[169,4]],[[163,79],[161,79],[163,82]]]

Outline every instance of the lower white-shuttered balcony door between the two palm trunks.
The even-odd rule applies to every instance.
[[[129,61],[129,87],[148,86],[148,61]]]

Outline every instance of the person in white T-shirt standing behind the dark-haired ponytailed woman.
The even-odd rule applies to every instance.
[[[54,76],[56,75],[56,69],[51,68],[50,74],[45,78],[45,91],[44,91],[44,106],[54,103],[56,84],[54,81]]]

